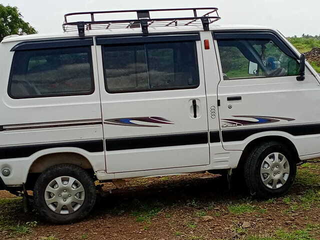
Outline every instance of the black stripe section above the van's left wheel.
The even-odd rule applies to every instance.
[[[77,147],[88,152],[101,152],[103,151],[103,140],[70,141],[0,147],[0,159],[28,157],[37,151],[53,147]]]

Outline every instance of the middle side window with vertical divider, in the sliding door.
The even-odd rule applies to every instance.
[[[103,46],[103,67],[110,93],[199,85],[194,41]]]

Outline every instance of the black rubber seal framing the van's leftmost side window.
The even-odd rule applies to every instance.
[[[74,47],[68,47],[68,48],[76,48],[79,46]],[[82,46],[85,47],[85,46]],[[78,95],[91,95],[95,91],[95,84],[94,84],[94,74],[93,74],[93,62],[92,62],[92,50],[90,46],[86,46],[88,48],[88,59],[90,64],[90,76],[91,76],[91,83],[92,83],[92,89],[88,92],[67,92],[67,93],[55,93],[55,94],[43,94],[43,95],[29,95],[29,96],[13,96],[10,92],[11,89],[11,83],[12,83],[12,76],[13,76],[13,62],[16,57],[16,54],[13,54],[12,62],[11,62],[11,68],[10,68],[10,75],[9,75],[9,81],[7,86],[7,94],[12,99],[28,99],[28,98],[40,98],[40,97],[61,97],[61,96],[78,96]],[[60,49],[64,47],[58,47],[55,49]],[[46,48],[48,49],[48,48]],[[30,49],[30,50],[45,50],[45,49]]]

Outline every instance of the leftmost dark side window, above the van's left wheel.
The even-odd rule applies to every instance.
[[[90,94],[94,91],[89,47],[14,53],[8,86],[13,98]]]

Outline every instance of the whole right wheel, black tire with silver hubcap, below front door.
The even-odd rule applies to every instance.
[[[295,175],[296,161],[292,151],[277,141],[263,142],[253,148],[244,164],[248,190],[259,198],[285,194],[292,186]]]

